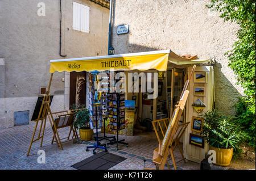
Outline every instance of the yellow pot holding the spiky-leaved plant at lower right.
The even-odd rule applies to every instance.
[[[229,166],[232,156],[233,156],[233,148],[232,149],[222,149],[222,148],[215,148],[210,146],[209,150],[216,151],[216,163],[215,165],[220,166]]]

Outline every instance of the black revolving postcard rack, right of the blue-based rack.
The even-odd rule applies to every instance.
[[[118,140],[118,132],[125,129],[125,94],[124,93],[108,93],[108,116],[110,129],[117,132],[117,139],[113,140],[113,144],[123,144],[128,147],[125,140]]]

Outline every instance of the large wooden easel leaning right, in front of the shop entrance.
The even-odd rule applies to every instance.
[[[187,98],[188,98],[189,91],[187,90],[187,88],[188,88],[188,85],[189,85],[189,81],[191,80],[192,75],[195,71],[195,68],[196,68],[196,65],[193,66],[191,75],[190,75],[189,79],[185,82],[183,91],[181,92],[179,104],[176,106],[176,108],[174,110],[174,113],[173,113],[172,118],[171,118],[171,122],[168,125],[167,131],[164,134],[164,138],[163,138],[162,142],[160,141],[160,138],[159,138],[158,133],[156,131],[155,125],[153,124],[153,127],[154,127],[155,132],[156,132],[156,136],[158,137],[158,141],[160,143],[159,147],[154,150],[155,154],[154,154],[153,162],[156,164],[156,169],[163,170],[165,164],[167,164],[168,169],[170,169],[170,165],[168,165],[168,162],[167,162],[167,157],[168,157],[169,153],[170,153],[171,158],[172,158],[172,163],[174,163],[173,164],[174,169],[175,170],[177,169],[176,163],[175,163],[175,158],[174,158],[174,153],[173,153],[174,148],[172,148],[172,143],[174,141],[174,137],[175,137],[176,132],[177,132],[177,126],[179,124],[180,117],[183,113],[185,103],[186,103]],[[165,124],[165,122],[164,122],[164,124]],[[161,132],[163,133],[162,129],[161,129]],[[184,159],[184,157],[183,157],[183,159]],[[150,169],[150,168],[145,168],[145,169]]]

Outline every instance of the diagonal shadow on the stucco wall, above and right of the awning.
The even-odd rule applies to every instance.
[[[113,35],[116,33],[117,27],[113,28]],[[122,53],[137,53],[137,52],[148,52],[154,50],[162,50],[154,47],[148,47],[138,44],[129,43],[129,33],[124,35],[114,35],[113,47],[115,48],[115,54]],[[142,42],[143,44],[143,42]],[[172,49],[174,47],[170,47]],[[209,58],[209,57],[199,57]],[[214,80],[215,80],[215,108],[225,115],[235,115],[235,107],[238,98],[242,95],[236,87],[232,85],[228,78],[221,71],[222,65],[218,62],[214,65]]]

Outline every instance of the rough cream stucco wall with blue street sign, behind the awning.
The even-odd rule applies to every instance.
[[[236,41],[237,24],[224,22],[205,7],[209,0],[116,0],[113,20],[115,54],[171,49],[179,55],[216,58],[214,68],[216,107],[234,114],[242,89],[236,85],[224,53]],[[129,24],[130,32],[117,35],[117,26]]]

